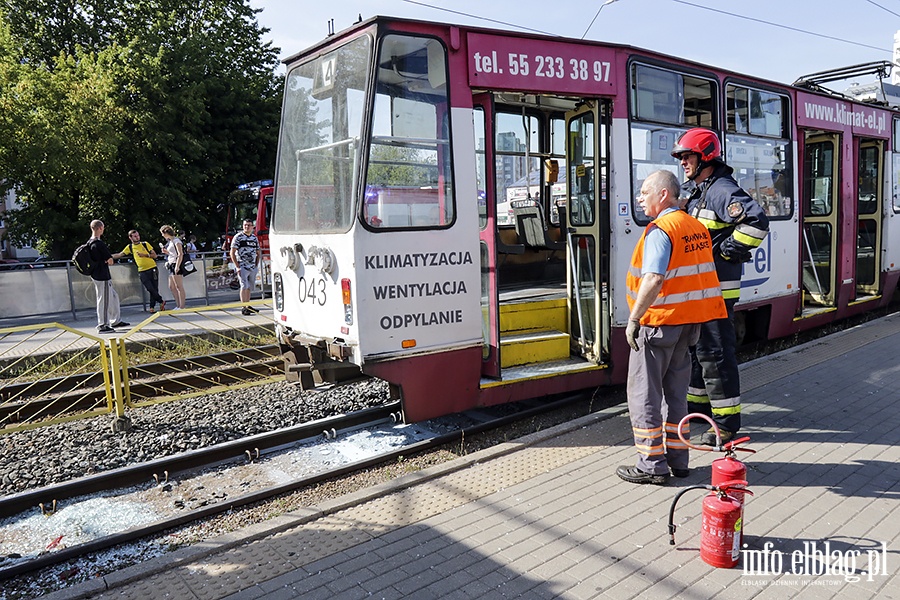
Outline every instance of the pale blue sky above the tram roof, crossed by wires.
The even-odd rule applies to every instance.
[[[355,22],[360,14],[364,19],[381,14],[512,29],[430,7],[581,38],[603,1],[251,0],[250,3],[263,9],[257,18],[263,27],[271,30],[269,36],[285,58],[324,38],[329,19],[334,19],[335,30],[340,31]],[[900,0],[613,0],[603,6],[587,38],[638,46],[791,83],[801,75],[817,71],[890,60],[898,29]],[[900,74],[900,67],[897,71]],[[857,81],[871,79],[864,77]]]

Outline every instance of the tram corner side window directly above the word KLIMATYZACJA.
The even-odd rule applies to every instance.
[[[388,35],[381,42],[362,208],[370,227],[453,222],[446,62],[436,39]]]

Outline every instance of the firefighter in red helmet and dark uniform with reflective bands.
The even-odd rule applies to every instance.
[[[752,258],[769,233],[769,220],[731,176],[734,169],[722,159],[715,132],[701,127],[689,129],[675,142],[672,156],[681,161],[688,179],[688,214],[703,223],[712,236],[716,273],[728,310],[727,318],[700,327],[700,341],[691,351],[688,406],[693,412],[712,416],[724,443],[741,428],[734,305],[741,295],[742,264]],[[702,444],[713,446],[715,442],[712,428],[700,437]]]

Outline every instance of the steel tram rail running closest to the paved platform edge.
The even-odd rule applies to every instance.
[[[495,419],[487,419],[483,420],[475,425],[470,427],[465,427],[458,429],[456,431],[451,431],[442,435],[435,436],[433,438],[422,440],[419,442],[415,442],[408,446],[403,446],[402,448],[396,448],[377,456],[373,456],[367,459],[355,461],[352,463],[345,464],[343,466],[337,467],[335,469],[331,469],[328,471],[323,471],[321,473],[316,473],[307,477],[303,477],[282,485],[266,488],[263,490],[259,490],[250,494],[246,494],[244,496],[240,496],[238,498],[234,498],[228,502],[222,502],[219,504],[207,505],[203,508],[193,510],[188,513],[183,513],[177,517],[172,519],[164,519],[158,521],[156,523],[152,523],[150,525],[135,527],[128,531],[123,531],[121,533],[112,534],[103,538],[98,538],[96,540],[92,540],[90,542],[86,542],[84,544],[79,544],[78,546],[73,546],[70,548],[64,548],[62,550],[56,552],[50,552],[48,554],[43,554],[38,556],[35,559],[31,559],[28,561],[23,561],[21,563],[17,563],[14,565],[10,565],[9,567],[0,569],[0,581],[4,579],[9,579],[10,577],[15,577],[17,575],[21,575],[23,573],[28,573],[31,571],[36,571],[38,569],[43,569],[55,564],[59,564],[61,562],[65,562],[67,560],[72,560],[75,558],[79,558],[85,554],[89,554],[91,552],[96,552],[99,550],[104,550],[106,548],[111,548],[114,546],[126,544],[129,542],[133,542],[135,540],[157,534],[161,531],[165,531],[167,529],[172,529],[173,527],[178,527],[184,525],[186,523],[190,523],[193,521],[198,521],[200,519],[204,519],[207,517],[214,516],[216,514],[220,514],[223,512],[227,512],[234,508],[238,508],[241,506],[246,506],[248,504],[253,504],[256,502],[260,502],[262,500],[266,500],[272,498],[274,496],[278,496],[281,494],[293,492],[295,490],[308,487],[311,485],[315,485],[321,483],[323,481],[327,481],[329,479],[334,479],[336,477],[343,477],[345,475],[354,473],[356,471],[360,471],[363,469],[371,468],[377,466],[379,464],[385,462],[391,462],[397,460],[401,456],[409,456],[410,454],[423,452],[426,450],[431,450],[440,446],[444,446],[447,444],[457,443],[464,441],[467,437],[471,438],[472,435],[483,433],[485,431],[489,431],[491,429],[496,429],[498,427],[503,427],[514,423],[516,421],[521,421],[524,419],[528,419],[530,417],[538,416],[545,412],[549,412],[552,410],[557,410],[563,408],[569,404],[573,404],[578,402],[579,400],[584,399],[586,396],[586,392],[577,392],[566,395],[558,400],[553,402],[544,403],[544,404],[532,404],[529,408],[525,410],[514,412],[511,414],[507,414]],[[370,410],[370,409],[367,409]],[[612,418],[613,416],[624,413],[627,409],[622,408],[620,411],[611,412],[606,418]],[[466,413],[463,413],[466,414]],[[483,414],[483,413],[479,413]],[[321,428],[322,421],[318,421],[318,426]]]

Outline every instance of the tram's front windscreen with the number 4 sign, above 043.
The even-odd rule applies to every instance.
[[[350,229],[371,46],[371,38],[363,35],[288,73],[275,177],[275,231]]]

